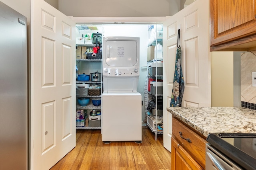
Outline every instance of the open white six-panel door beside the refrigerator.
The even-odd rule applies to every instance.
[[[76,146],[75,23],[31,0],[31,170],[48,170]]]

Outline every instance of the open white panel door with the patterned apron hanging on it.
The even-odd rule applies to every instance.
[[[177,33],[180,28],[182,71],[185,81],[182,106],[211,106],[209,2],[196,0],[164,22],[164,104],[170,106]],[[164,109],[164,147],[171,151],[172,114]]]

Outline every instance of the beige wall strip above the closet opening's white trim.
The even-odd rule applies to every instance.
[[[59,10],[74,17],[172,16],[180,0],[59,0]]]

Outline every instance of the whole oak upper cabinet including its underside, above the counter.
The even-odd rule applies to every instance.
[[[256,49],[256,0],[210,0],[210,51]]]

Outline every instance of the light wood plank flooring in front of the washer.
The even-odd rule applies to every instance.
[[[104,144],[100,129],[77,129],[76,147],[50,170],[170,170],[171,153],[163,135],[142,126],[142,143]]]

